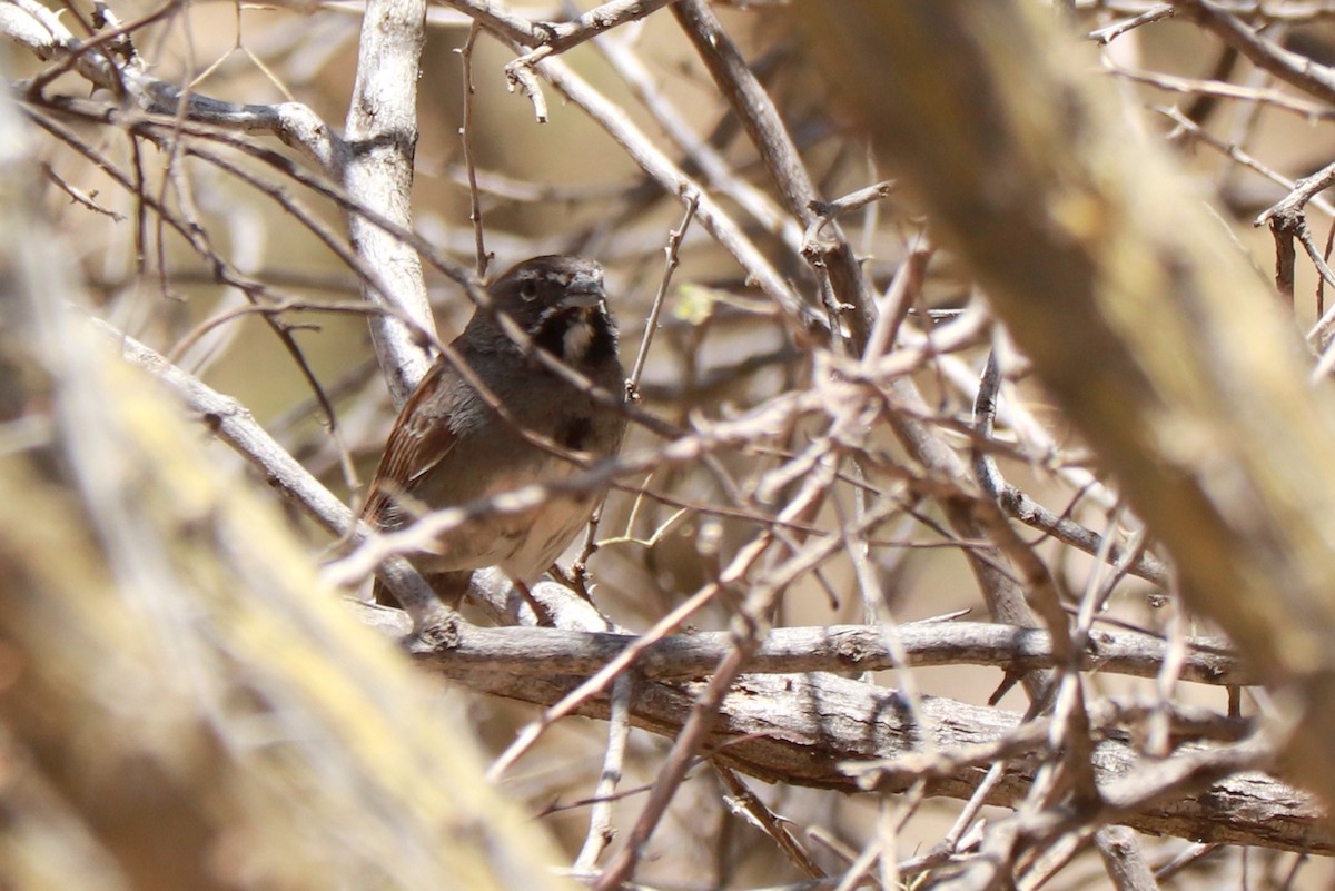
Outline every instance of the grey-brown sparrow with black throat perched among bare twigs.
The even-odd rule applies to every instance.
[[[491,312],[478,307],[450,344],[482,388],[449,353],[435,360],[394,421],[371,482],[362,519],[374,528],[390,532],[430,511],[558,482],[581,470],[575,455],[598,460],[621,448],[625,413],[549,367],[555,360],[605,397],[622,397],[625,371],[602,267],[538,256],[505,272],[487,293]],[[511,337],[494,313],[507,316],[529,345]],[[451,606],[467,591],[473,570],[495,566],[511,580],[533,584],[605,492],[562,492],[523,512],[477,516],[443,532],[429,552],[407,556]],[[395,604],[379,582],[375,599]]]

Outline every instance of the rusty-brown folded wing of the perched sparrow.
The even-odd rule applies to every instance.
[[[418,479],[439,464],[454,448],[455,435],[450,415],[457,399],[443,399],[442,393],[458,391],[449,379],[457,377],[449,363],[437,361],[403,403],[394,421],[390,441],[384,444],[380,464],[371,480],[362,519],[378,528],[394,528],[406,519],[395,508],[398,495],[413,495]]]

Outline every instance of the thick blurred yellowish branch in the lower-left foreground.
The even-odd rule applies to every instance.
[[[482,783],[462,722],[441,720],[274,506],[71,312],[80,289],[7,97],[0,145],[0,392],[49,400],[52,417],[44,444],[0,460],[0,874],[21,888],[561,887],[553,846]]]

